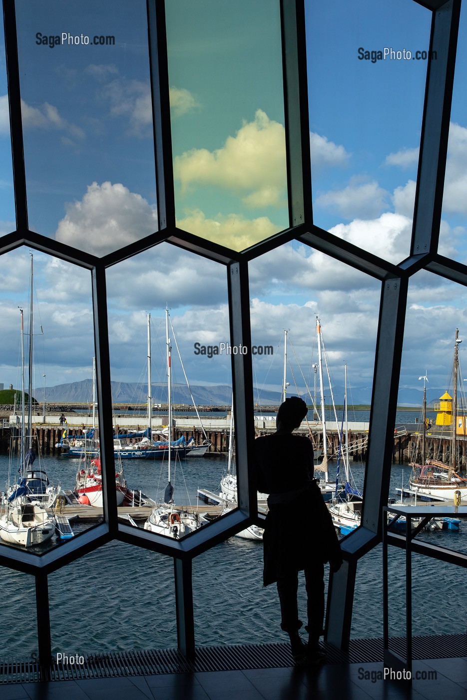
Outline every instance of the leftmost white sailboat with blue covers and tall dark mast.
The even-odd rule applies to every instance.
[[[21,314],[21,423],[19,435],[20,472],[19,484],[7,489],[6,511],[0,517],[0,538],[4,542],[24,547],[33,547],[50,540],[55,533],[57,521],[46,503],[57,496],[51,492],[45,470],[32,467],[36,453],[32,436],[32,364],[33,364],[33,256],[31,253],[30,303],[29,303],[29,363],[28,363],[28,418],[26,422],[24,382],[24,312]],[[10,468],[12,463],[10,461]]]

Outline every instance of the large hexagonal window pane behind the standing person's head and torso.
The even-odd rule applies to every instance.
[[[284,393],[303,398],[322,495],[345,503],[347,482],[364,486],[380,282],[293,241],[250,263],[250,295],[257,435],[275,431]]]

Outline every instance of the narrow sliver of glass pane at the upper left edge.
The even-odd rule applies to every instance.
[[[16,228],[13,166],[11,162],[10,116],[6,82],[5,33],[0,16],[0,236]]]

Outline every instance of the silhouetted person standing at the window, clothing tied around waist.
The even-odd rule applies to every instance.
[[[306,416],[306,403],[287,398],[278,410],[276,430],[254,441],[257,489],[268,493],[264,525],[265,586],[278,587],[281,628],[289,634],[297,664],[316,665],[326,660],[319,648],[324,620],[324,563],[337,571],[342,563],[340,545],[331,515],[313,476],[313,449],[308,437],[292,435]],[[304,571],[308,645],[299,629],[298,572]]]

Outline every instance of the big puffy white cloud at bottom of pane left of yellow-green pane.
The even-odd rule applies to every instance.
[[[57,241],[95,255],[115,251],[157,230],[157,212],[121,183],[89,185],[79,202],[66,207]]]

